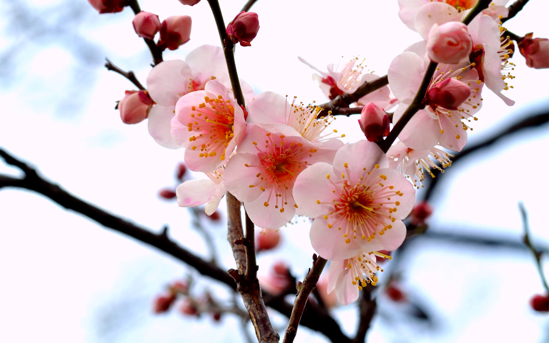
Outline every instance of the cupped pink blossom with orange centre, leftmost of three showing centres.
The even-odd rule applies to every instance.
[[[177,100],[171,133],[185,151],[185,164],[192,171],[213,172],[225,165],[244,137],[244,112],[217,80],[204,91]]]

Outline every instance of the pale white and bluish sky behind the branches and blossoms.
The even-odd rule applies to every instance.
[[[244,2],[221,1],[227,23]],[[191,41],[165,52],[165,60],[184,59],[202,44],[219,45],[206,1],[194,7],[177,0],[139,3],[160,20],[192,16]],[[237,48],[239,75],[257,92],[296,95],[305,103],[325,99],[311,79],[312,70],[298,56],[324,69],[360,55],[368,69],[384,75],[397,54],[421,39],[399,20],[396,0],[259,0],[252,10],[259,14],[261,29],[251,47]],[[124,125],[114,110],[115,100],[133,87],[103,68],[103,58],[134,70],[143,84],[150,70],[150,54],[133,31],[131,10],[98,15],[85,0],[4,0],[0,12],[0,146],[69,192],[116,215],[154,230],[169,224],[174,239],[206,256],[200,236],[189,228],[187,210],[156,195],[158,189],[176,185],[173,170],[183,151],[160,147],[149,137],[146,122]],[[534,31],[535,36],[549,37],[547,13],[549,3],[532,0],[505,26],[519,35]],[[549,70],[527,68],[518,52],[513,62],[514,89],[506,95],[516,105],[507,107],[486,89],[468,144],[532,108],[549,107]],[[356,119],[341,117],[335,123],[348,141],[361,136]],[[433,199],[432,229],[518,241],[522,224],[517,203],[524,201],[534,240],[547,246],[548,143],[544,126],[451,166]],[[18,175],[4,164],[0,172]],[[225,212],[224,203],[220,209]],[[222,268],[232,267],[224,224],[205,225],[215,237]],[[197,273],[43,196],[1,190],[0,232],[0,341],[243,341],[238,320],[231,316],[214,323],[209,316],[188,318],[178,311],[154,315],[152,300],[167,283]],[[259,273],[267,273],[273,261],[285,260],[302,279],[313,253],[308,227],[300,223],[282,233],[282,245],[259,257]],[[549,317],[528,305],[533,294],[542,293],[528,251],[427,240],[417,244],[403,262],[403,285],[433,323],[411,320],[406,308],[381,295],[369,342],[549,342]],[[549,274],[547,258],[545,271]],[[197,291],[209,289],[217,298],[229,299],[225,286],[198,279]],[[333,311],[346,333],[355,331],[355,305]],[[271,312],[271,318],[277,327],[285,327],[284,317]],[[251,333],[251,325],[248,329]],[[305,327],[296,338],[325,341]]]

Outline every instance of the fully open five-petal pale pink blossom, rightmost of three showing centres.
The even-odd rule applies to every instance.
[[[315,218],[311,244],[320,256],[337,261],[361,250],[395,250],[412,210],[416,190],[376,143],[359,140],[335,154],[333,166],[318,162],[297,177],[298,215]]]

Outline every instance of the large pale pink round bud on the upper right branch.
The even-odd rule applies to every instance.
[[[427,37],[427,54],[439,63],[458,63],[466,58],[473,48],[473,40],[467,25],[449,21],[440,26],[434,24]]]

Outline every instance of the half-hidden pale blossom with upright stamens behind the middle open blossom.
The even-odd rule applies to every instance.
[[[287,97],[273,92],[263,92],[255,95],[251,102],[248,102],[249,123],[279,123],[292,127],[301,134],[301,137],[309,140],[318,148],[338,149],[343,145],[339,140],[345,134],[337,134],[337,130],[328,130],[329,125],[335,117],[318,118],[322,108],[318,106],[305,106],[303,103],[296,104],[294,97],[292,104],[289,104]]]

